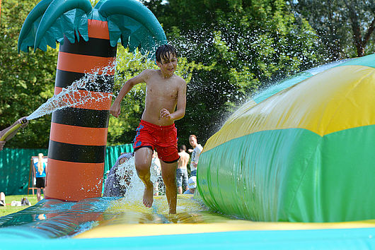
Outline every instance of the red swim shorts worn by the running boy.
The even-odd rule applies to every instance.
[[[134,137],[134,151],[139,148],[152,148],[158,152],[158,158],[166,163],[177,162],[180,158],[177,149],[177,129],[175,124],[158,126],[141,120]]]

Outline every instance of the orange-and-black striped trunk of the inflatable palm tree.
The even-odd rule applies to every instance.
[[[65,38],[59,47],[54,94],[85,77],[90,79],[85,88],[67,100],[89,98],[52,113],[48,198],[79,201],[101,195],[116,47],[110,46],[106,22],[88,20],[88,37],[73,44]]]

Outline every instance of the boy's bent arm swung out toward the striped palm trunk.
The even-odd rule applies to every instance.
[[[142,71],[138,76],[134,76],[133,78],[130,78],[126,83],[122,86],[120,93],[117,95],[115,101],[113,102],[113,105],[110,107],[110,114],[112,114],[114,117],[119,117],[121,114],[121,101],[129,93],[129,91],[134,87],[134,85],[137,85],[138,83],[144,83],[146,82],[147,78],[149,78],[150,70],[146,69]]]

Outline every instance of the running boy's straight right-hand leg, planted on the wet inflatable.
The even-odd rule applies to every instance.
[[[178,162],[166,163],[161,160],[161,174],[166,185],[166,196],[169,206],[169,213],[176,213],[177,206],[177,184],[175,183],[175,171]]]

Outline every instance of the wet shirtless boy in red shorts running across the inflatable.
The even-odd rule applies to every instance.
[[[145,186],[143,203],[144,206],[151,207],[154,202],[150,166],[152,153],[156,148],[161,160],[169,213],[176,213],[175,169],[180,156],[177,150],[177,129],[175,129],[174,121],[185,115],[186,82],[175,75],[177,52],[171,45],[162,45],[156,49],[156,64],[160,69],[146,69],[122,86],[119,95],[110,107],[110,114],[118,117],[121,112],[122,98],[134,85],[146,83],[145,108],[133,144],[135,167]]]

